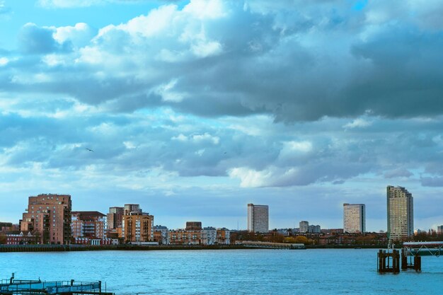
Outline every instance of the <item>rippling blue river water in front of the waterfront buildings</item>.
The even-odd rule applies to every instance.
[[[0,279],[106,282],[116,294],[443,294],[443,258],[377,274],[375,249],[0,253]]]

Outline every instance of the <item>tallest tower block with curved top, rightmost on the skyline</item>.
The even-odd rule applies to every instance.
[[[386,188],[388,234],[393,240],[405,240],[414,234],[413,195],[405,187]]]

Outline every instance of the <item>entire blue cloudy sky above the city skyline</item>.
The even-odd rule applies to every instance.
[[[438,0],[0,0],[0,221],[28,196],[155,224],[443,224]],[[87,149],[93,149],[88,151]]]

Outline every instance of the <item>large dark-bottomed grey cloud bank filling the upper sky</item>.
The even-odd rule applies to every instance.
[[[340,1],[193,0],[105,26],[95,37],[84,23],[25,25],[21,45],[27,53],[59,55],[74,47],[63,62],[45,57],[47,65],[72,71],[67,80],[54,71],[47,91],[63,89],[117,112],[168,106],[208,117],[265,113],[284,122],[350,117],[344,127],[355,129],[371,124],[356,118],[368,111],[382,117],[443,112],[439,23],[420,23],[440,5],[407,4],[393,16],[398,4],[379,1],[356,11]],[[93,96],[79,91],[85,88]]]

